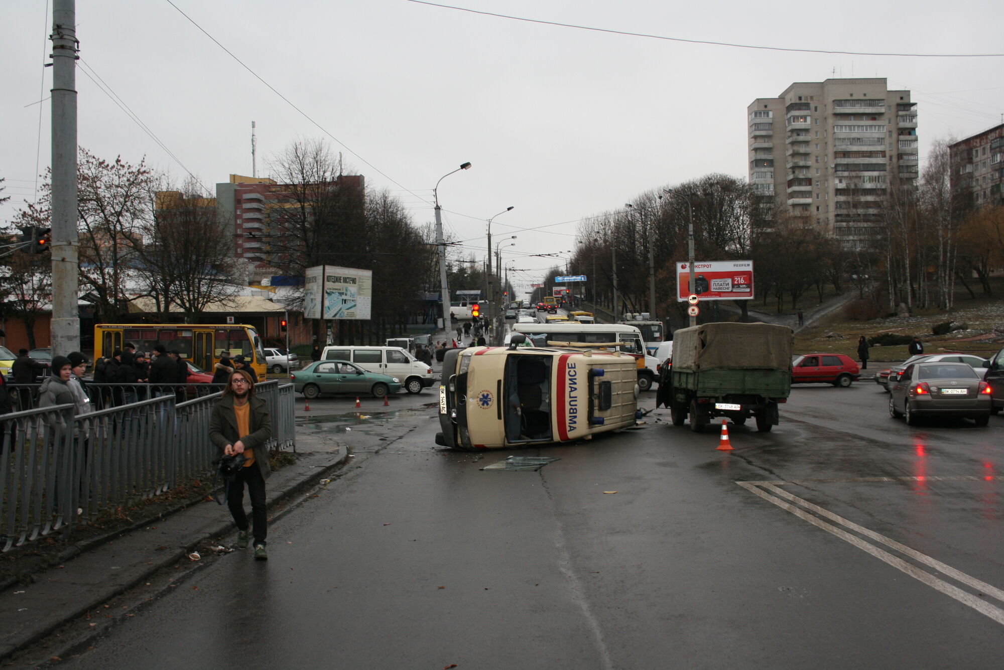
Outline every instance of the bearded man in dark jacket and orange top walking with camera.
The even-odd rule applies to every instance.
[[[268,405],[255,397],[251,375],[245,370],[234,371],[210,415],[209,438],[219,447],[223,460],[232,458],[232,464],[237,465],[237,472],[227,487],[227,506],[237,525],[238,549],[247,549],[248,546],[248,518],[244,514],[244,484],[247,484],[251,498],[254,558],[259,561],[268,559],[265,550],[268,523],[265,479],[271,468],[265,445],[271,436],[272,419]]]

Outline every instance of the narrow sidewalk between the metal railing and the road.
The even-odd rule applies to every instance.
[[[270,522],[282,514],[283,502],[329,476],[347,459],[345,447],[323,435],[296,439],[299,459],[268,478]],[[89,543],[64,565],[38,575],[34,584],[0,593],[0,660],[100,608],[158,571],[179,561],[188,563],[188,555],[200,543],[227,536],[236,533],[226,505],[210,500],[163,519],[140,520],[123,535]]]

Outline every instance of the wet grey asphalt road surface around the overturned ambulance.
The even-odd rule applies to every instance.
[[[1000,668],[1004,417],[911,428],[887,397],[798,387],[729,453],[658,410],[466,454],[435,446],[431,390],[320,400],[301,429],[355,456],[271,559],[222,557],[63,665]],[[479,469],[510,453],[560,460]]]

